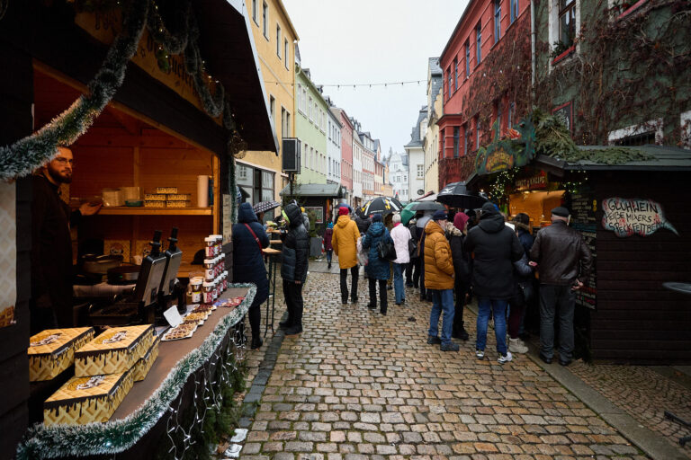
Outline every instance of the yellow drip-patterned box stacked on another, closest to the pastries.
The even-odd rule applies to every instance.
[[[151,346],[154,326],[113,327],[75,352],[75,376],[118,374],[130,370]]]

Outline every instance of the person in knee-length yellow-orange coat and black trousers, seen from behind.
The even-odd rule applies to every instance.
[[[331,237],[331,245],[338,256],[341,272],[341,303],[348,303],[348,270],[351,274],[350,299],[357,303],[357,278],[360,266],[357,265],[357,240],[360,232],[348,216],[348,208],[338,208],[338,222]]]

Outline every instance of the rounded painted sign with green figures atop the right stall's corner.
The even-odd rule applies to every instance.
[[[497,133],[493,142],[478,149],[475,157],[475,172],[478,175],[499,173],[530,163],[535,155],[535,128],[532,119],[522,119],[514,129],[517,135],[499,138]],[[512,131],[513,132],[513,131]]]

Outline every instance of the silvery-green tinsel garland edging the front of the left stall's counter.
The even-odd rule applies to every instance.
[[[123,452],[134,446],[163,417],[189,376],[211,359],[229,329],[237,324],[255,299],[254,284],[231,284],[229,288],[249,288],[242,304],[224,316],[198,349],[182,358],[166,376],[157,391],[122,420],[86,425],[45,426],[38,423],[27,430],[17,447],[17,460],[56,458],[62,456],[94,456]]]

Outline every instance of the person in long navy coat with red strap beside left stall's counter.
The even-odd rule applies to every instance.
[[[269,236],[256,217],[255,209],[249,203],[240,203],[238,224],[233,224],[233,282],[254,283],[255,299],[247,310],[249,327],[252,329],[251,349],[262,346],[259,323],[262,319],[262,304],[269,296],[269,279],[262,250],[269,247]],[[244,323],[243,323],[244,324]],[[242,328],[244,334],[244,328]]]

